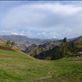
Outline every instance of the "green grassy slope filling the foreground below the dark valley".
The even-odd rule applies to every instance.
[[[82,58],[42,61],[0,49],[0,82],[82,82]]]

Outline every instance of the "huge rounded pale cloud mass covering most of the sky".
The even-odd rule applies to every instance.
[[[71,36],[71,33],[81,33],[81,16],[82,6],[32,3],[12,8],[4,16],[1,26],[12,31],[11,34],[14,35],[45,38]]]

